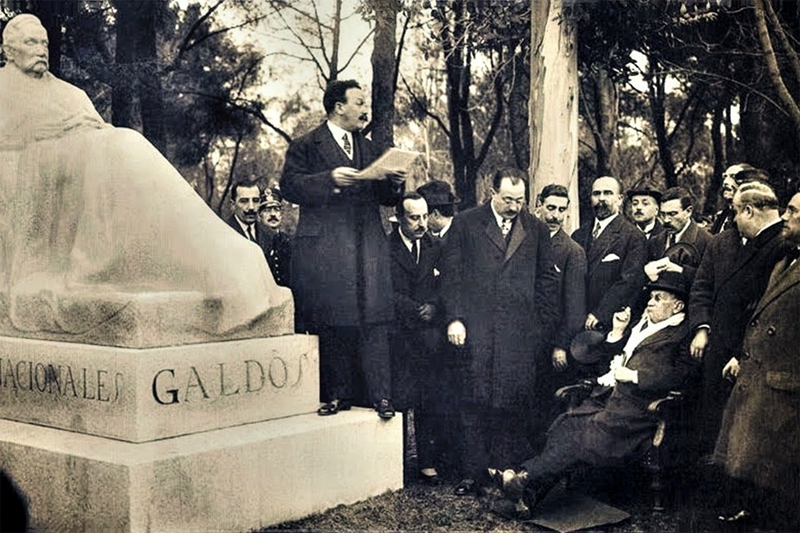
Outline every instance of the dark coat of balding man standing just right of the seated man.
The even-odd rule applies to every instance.
[[[728,229],[715,235],[703,255],[692,283],[689,324],[692,329],[706,324],[711,330],[703,360],[709,377],[731,357],[739,355],[745,326],[767,287],[772,268],[787,245],[780,238],[781,224],[762,231],[746,246],[739,233]],[[722,379],[721,376],[719,379]]]

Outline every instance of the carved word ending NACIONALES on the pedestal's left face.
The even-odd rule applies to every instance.
[[[0,358],[0,387],[14,393],[116,402],[123,381],[122,373],[108,369]]]

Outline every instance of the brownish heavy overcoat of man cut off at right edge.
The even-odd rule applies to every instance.
[[[800,261],[783,259],[745,329],[715,450],[728,473],[800,495]]]

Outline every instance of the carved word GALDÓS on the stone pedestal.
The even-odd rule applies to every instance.
[[[302,381],[304,364],[308,364],[307,354],[287,360],[273,350],[261,359],[162,368],[153,376],[153,399],[175,405],[291,389]]]

